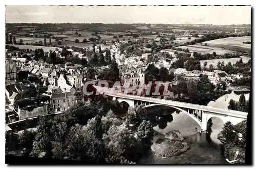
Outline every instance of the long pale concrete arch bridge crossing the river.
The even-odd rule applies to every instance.
[[[143,97],[135,95],[127,95],[122,93],[108,93],[104,91],[105,95],[112,96],[113,99],[118,100],[120,103],[126,102],[130,107],[135,105],[144,104],[145,107],[164,105],[176,108],[177,110],[186,112],[186,114],[195,120],[201,129],[206,130],[207,122],[212,117],[220,118],[223,123],[230,121],[236,125],[243,120],[247,119],[247,112],[223,109],[218,107],[204,106],[199,104],[191,104],[173,100],[158,99],[152,97]]]

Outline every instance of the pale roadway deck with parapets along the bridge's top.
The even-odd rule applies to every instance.
[[[108,93],[109,94],[109,93]],[[127,94],[122,94],[122,93],[115,93],[115,94],[109,94],[109,95],[116,95],[116,96],[125,96],[125,97],[130,97],[130,98],[145,98],[145,99],[149,99],[149,100],[161,100],[161,101],[167,101],[167,102],[175,102],[175,103],[179,103],[179,104],[189,104],[189,105],[194,105],[194,106],[197,106],[197,107],[200,107],[200,108],[204,108],[205,111],[209,110],[220,110],[220,111],[228,111],[232,114],[237,114],[237,115],[241,115],[241,112],[242,111],[236,111],[236,110],[230,110],[230,109],[225,109],[225,108],[219,108],[219,107],[212,107],[212,106],[205,106],[205,105],[199,105],[199,104],[193,104],[193,103],[186,103],[186,102],[180,102],[180,101],[174,101],[174,100],[167,100],[167,99],[159,99],[159,98],[152,98],[152,97],[145,97],[145,96],[137,96],[137,95],[127,95]],[[148,101],[150,102],[150,101]],[[248,114],[247,112],[243,112],[245,114]]]

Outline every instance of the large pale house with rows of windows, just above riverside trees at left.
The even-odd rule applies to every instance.
[[[71,92],[53,93],[50,98],[51,108],[55,112],[65,111],[76,103],[76,97]]]

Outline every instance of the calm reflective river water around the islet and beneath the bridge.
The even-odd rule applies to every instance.
[[[216,101],[210,101],[207,105],[213,107],[227,108],[229,100],[238,101],[240,95],[226,94]],[[249,99],[249,94],[245,94],[246,100]],[[172,118],[170,118],[172,116]],[[141,159],[143,164],[226,164],[221,142],[217,138],[218,133],[222,130],[224,123],[219,118],[212,118],[212,132],[210,134],[195,133],[195,127],[200,129],[200,126],[191,119],[185,112],[175,112],[173,115],[165,115],[163,119],[172,119],[165,121],[165,124],[156,125],[154,130],[166,133],[172,129],[177,129],[187,139],[190,144],[190,149],[179,156],[172,158],[162,158],[151,154]]]

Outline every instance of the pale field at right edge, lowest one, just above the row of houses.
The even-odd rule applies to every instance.
[[[241,56],[240,58],[242,58],[244,63],[247,63],[251,58],[250,57],[246,57],[246,56]],[[209,65],[212,64],[215,67],[218,65],[218,62],[225,62],[225,65],[228,62],[231,62],[232,64],[240,61],[240,58],[227,58],[227,59],[212,59],[212,60],[202,60],[200,61],[201,66],[204,66],[204,63],[207,62],[207,66],[206,68],[209,68]]]

